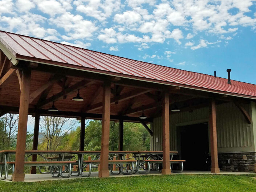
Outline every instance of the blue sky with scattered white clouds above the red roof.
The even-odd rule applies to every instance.
[[[251,0],[0,0],[0,29],[256,84]]]

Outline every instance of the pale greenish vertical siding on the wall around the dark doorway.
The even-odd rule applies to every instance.
[[[250,111],[249,109],[253,109],[253,105],[245,105],[244,107],[248,113]],[[256,131],[256,110],[254,111],[254,128]],[[208,122],[208,119],[208,107],[194,110],[192,113],[183,112],[171,114],[170,150],[177,150],[177,126]],[[218,152],[255,151],[253,124],[247,123],[241,111],[233,103],[224,103],[216,106],[216,123]],[[151,139],[151,150],[162,150],[162,117],[153,120],[152,129],[153,137]],[[159,138],[158,143],[156,142],[157,137]]]

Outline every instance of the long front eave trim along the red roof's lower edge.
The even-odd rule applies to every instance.
[[[19,55],[17,55],[17,57],[19,57]],[[239,93],[229,93],[229,92],[218,91],[218,90],[208,90],[207,88],[203,88],[203,87],[194,87],[192,85],[183,85],[183,84],[179,84],[179,83],[163,82],[163,81],[154,80],[154,79],[149,80],[149,79],[144,79],[144,78],[140,78],[140,77],[138,77],[138,78],[130,77],[130,75],[125,75],[125,74],[120,75],[120,74],[117,74],[117,73],[114,73],[114,72],[107,72],[107,71],[106,72],[100,72],[99,70],[96,71],[96,70],[85,69],[85,67],[76,66],[76,65],[72,65],[72,64],[63,64],[63,63],[59,63],[59,62],[56,62],[56,64],[53,64],[53,63],[47,63],[47,62],[33,61],[33,60],[26,59],[23,56],[21,56],[21,58],[17,58],[17,59],[18,60],[23,60],[23,61],[37,62],[37,63],[45,64],[45,65],[52,65],[52,66],[57,66],[57,67],[62,67],[62,68],[76,69],[76,70],[81,70],[81,71],[85,71],[85,72],[110,75],[110,76],[114,76],[114,77],[122,77],[122,78],[127,78],[127,79],[145,81],[145,82],[150,82],[150,83],[158,83],[158,84],[169,85],[169,86],[179,86],[179,87],[183,87],[183,88],[187,88],[187,89],[206,91],[208,93],[224,94],[224,95],[230,95],[230,96],[236,96],[236,97],[247,98],[247,99],[255,99],[256,100],[256,96],[252,96],[252,95],[243,95],[243,94],[239,94]]]

